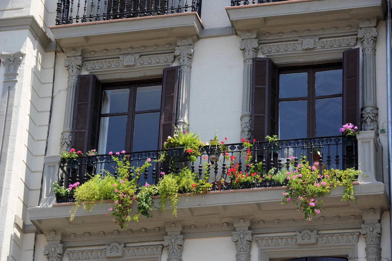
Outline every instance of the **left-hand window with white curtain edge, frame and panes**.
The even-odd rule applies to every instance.
[[[98,153],[158,149],[162,81],[102,86]]]

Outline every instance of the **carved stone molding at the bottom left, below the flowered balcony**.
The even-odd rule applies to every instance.
[[[149,246],[124,246],[124,244],[112,243],[96,249],[67,250],[65,252],[70,261],[89,259],[111,259],[129,257],[158,257],[162,254],[162,245]]]

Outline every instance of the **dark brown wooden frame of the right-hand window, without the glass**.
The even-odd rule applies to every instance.
[[[294,97],[294,98],[278,98],[278,108],[279,108],[279,103],[281,101],[304,101],[304,100],[307,101],[307,136],[308,136],[308,138],[316,137],[316,100],[342,97],[342,105],[343,105],[343,82],[342,82],[341,94],[316,96],[316,86],[315,86],[316,72],[338,70],[338,69],[342,70],[342,77],[343,77],[343,64],[342,64],[342,62],[340,62],[340,63],[327,63],[327,64],[320,64],[320,65],[306,65],[306,66],[297,66],[297,67],[282,67],[282,68],[279,68],[279,70],[278,70],[278,79],[277,79],[278,89],[280,87],[280,74],[296,73],[296,72],[307,72],[308,73],[308,86],[307,86],[308,95],[307,96]],[[278,109],[278,113],[279,113],[279,109]],[[342,113],[343,113],[343,106],[342,106]],[[343,117],[343,114],[342,114],[342,117]]]

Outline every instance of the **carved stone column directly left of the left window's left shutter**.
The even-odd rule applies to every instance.
[[[82,68],[82,56],[71,56],[65,59],[64,66],[68,71],[67,99],[65,101],[64,127],[61,132],[60,153],[70,150],[72,145],[73,112],[75,103],[76,84]]]

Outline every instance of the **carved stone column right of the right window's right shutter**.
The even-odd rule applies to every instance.
[[[376,41],[377,28],[358,30],[362,44],[362,109],[361,129],[374,130],[378,135],[378,108],[376,100]]]

